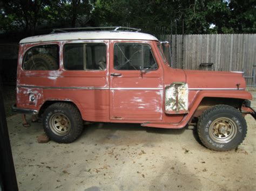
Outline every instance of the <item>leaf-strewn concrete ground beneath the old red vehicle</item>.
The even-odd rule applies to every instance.
[[[41,123],[24,128],[15,115],[8,126],[19,190],[256,190],[256,126],[246,121],[246,139],[228,152],[190,128],[95,123],[72,144],[38,144]]]

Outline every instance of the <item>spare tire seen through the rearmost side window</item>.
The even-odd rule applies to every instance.
[[[49,54],[37,54],[31,56],[26,62],[25,69],[27,70],[56,70],[58,65],[56,59]]]

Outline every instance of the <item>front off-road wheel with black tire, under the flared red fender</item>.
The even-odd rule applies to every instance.
[[[228,130],[230,131],[229,135],[227,135],[226,132],[227,136],[222,134],[219,130],[216,131],[217,127],[220,129],[224,127],[225,129],[225,125],[223,125],[225,123],[230,125],[228,129],[232,129],[232,131]],[[200,116],[197,132],[201,143],[207,148],[214,151],[229,151],[237,148],[245,139],[247,124],[245,118],[242,117],[238,109],[235,109],[230,105],[216,105],[204,111]],[[216,136],[216,134],[218,136]],[[228,136],[230,136],[229,139]]]

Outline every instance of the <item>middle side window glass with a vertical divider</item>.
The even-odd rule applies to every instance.
[[[104,43],[66,44],[64,68],[66,70],[105,70],[106,45]]]

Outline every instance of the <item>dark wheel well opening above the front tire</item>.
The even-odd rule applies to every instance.
[[[227,98],[227,97],[204,97],[198,105],[193,117],[199,117],[206,109],[213,107],[214,105],[225,104],[230,105],[234,108],[241,108],[244,100],[238,98]]]

